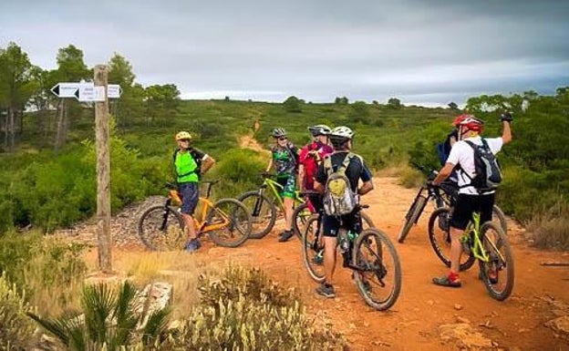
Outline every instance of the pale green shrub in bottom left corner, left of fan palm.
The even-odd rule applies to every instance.
[[[24,294],[19,294],[16,284],[10,284],[0,274],[0,350],[29,350],[35,326],[26,313],[32,308]]]

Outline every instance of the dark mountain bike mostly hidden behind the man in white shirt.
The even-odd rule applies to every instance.
[[[419,168],[423,170],[422,167]],[[437,171],[431,170],[427,178],[428,181],[425,181],[419,188],[419,191],[417,191],[417,195],[411,202],[411,206],[405,214],[403,224],[401,224],[399,229],[398,243],[403,243],[413,224],[419,222],[419,218],[428,201],[433,202],[435,210],[445,206],[449,208],[454,206],[458,196],[458,185],[454,181],[442,181],[439,186],[433,186],[429,181],[432,181],[436,175]],[[500,223],[503,232],[507,232],[506,216],[497,205],[494,205],[492,209],[492,218]]]

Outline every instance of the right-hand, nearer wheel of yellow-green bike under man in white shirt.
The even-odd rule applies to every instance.
[[[513,289],[513,256],[510,243],[502,228],[493,222],[481,225],[481,250],[489,256],[488,262],[478,261],[482,283],[492,298],[503,301]]]

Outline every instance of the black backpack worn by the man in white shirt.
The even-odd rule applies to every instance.
[[[502,182],[502,171],[496,156],[491,152],[488,142],[482,139],[482,145],[476,145],[470,140],[464,140],[474,150],[474,177],[471,178],[471,186],[478,192],[494,191]],[[466,186],[470,186],[466,185]]]

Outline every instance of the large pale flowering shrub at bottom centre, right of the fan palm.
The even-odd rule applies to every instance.
[[[181,325],[176,349],[330,350],[340,337],[318,331],[294,292],[257,270],[228,268],[220,279],[202,276],[202,305]]]

